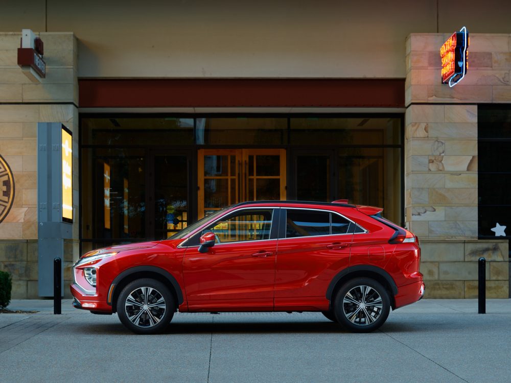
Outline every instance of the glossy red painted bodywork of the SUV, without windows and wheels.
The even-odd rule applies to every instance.
[[[391,244],[392,227],[367,216],[381,209],[357,209],[336,204],[307,204],[274,201],[240,204],[225,210],[249,207],[301,208],[342,214],[364,232],[273,238],[263,241],[220,243],[199,252],[186,241],[211,222],[204,222],[190,235],[176,240],[112,246],[88,253],[94,256],[117,254],[86,261],[87,254],[73,268],[73,296],[80,307],[97,312],[115,311],[116,290],[123,275],[135,270],[161,273],[180,290],[180,312],[228,311],[324,311],[330,307],[329,286],[350,268],[372,268],[388,276],[393,308],[419,300],[424,294],[419,272],[420,248],[417,241]],[[85,268],[95,268],[97,285],[90,285]],[[137,271],[140,273],[140,271]],[[138,274],[137,274],[138,275]],[[142,274],[140,274],[142,275]],[[178,295],[179,295],[178,294]],[[112,306],[113,303],[113,306]]]

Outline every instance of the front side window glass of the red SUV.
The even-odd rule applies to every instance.
[[[220,243],[268,240],[272,212],[272,209],[237,212],[203,229],[202,233],[214,232]]]

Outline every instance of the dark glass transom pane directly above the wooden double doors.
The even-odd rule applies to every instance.
[[[287,143],[287,118],[197,118],[198,145],[282,145]]]

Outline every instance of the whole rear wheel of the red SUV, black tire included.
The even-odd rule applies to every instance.
[[[385,323],[389,311],[387,290],[371,278],[355,278],[346,282],[334,301],[337,321],[353,332],[376,330]]]

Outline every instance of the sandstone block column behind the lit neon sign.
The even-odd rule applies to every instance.
[[[477,258],[486,254],[487,296],[507,298],[507,241],[477,240],[477,104],[511,99],[511,65],[501,67],[511,39],[471,35],[468,74],[451,88],[439,55],[449,36],[406,40],[406,222],[421,240],[427,297],[474,297]]]

